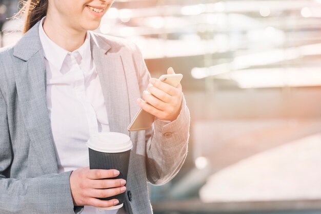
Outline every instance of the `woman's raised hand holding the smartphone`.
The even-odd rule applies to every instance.
[[[175,74],[175,72],[169,68],[167,74]],[[138,105],[159,120],[175,120],[182,104],[182,85],[179,83],[175,88],[155,78],[151,78],[149,82],[148,91],[150,93],[144,91],[143,94],[146,102],[137,99]]]

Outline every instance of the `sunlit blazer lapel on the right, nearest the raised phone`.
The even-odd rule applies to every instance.
[[[91,52],[102,85],[110,131],[129,135],[129,99],[122,55],[109,51],[110,46],[98,36],[91,33],[90,37]]]

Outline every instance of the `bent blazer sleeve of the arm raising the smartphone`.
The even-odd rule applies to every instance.
[[[141,51],[135,46],[138,82],[141,97],[150,79]],[[170,181],[182,167],[188,151],[190,113],[183,95],[176,120],[166,122],[156,119],[145,131],[147,179],[151,184],[162,185]]]

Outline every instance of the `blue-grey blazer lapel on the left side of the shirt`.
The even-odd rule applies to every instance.
[[[46,67],[38,34],[39,22],[17,42],[13,55],[21,60],[14,71],[18,101],[26,130],[45,174],[58,173],[47,110]]]

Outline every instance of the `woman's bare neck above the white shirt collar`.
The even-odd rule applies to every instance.
[[[86,30],[73,29],[64,20],[50,14],[47,14],[44,21],[43,28],[47,36],[63,49],[73,52],[84,44]]]

